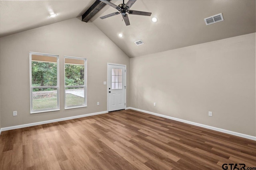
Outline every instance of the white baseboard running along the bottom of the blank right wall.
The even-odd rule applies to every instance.
[[[151,115],[156,115],[156,116],[164,117],[166,119],[172,119],[172,120],[175,120],[175,121],[180,121],[180,122],[183,122],[183,123],[188,123],[190,125],[204,127],[206,129],[211,129],[211,130],[214,130],[214,131],[218,131],[218,132],[222,132],[222,133],[227,133],[229,135],[234,135],[234,136],[238,136],[238,137],[242,137],[242,138],[251,139],[251,140],[256,141],[256,137],[254,137],[254,136],[245,135],[245,134],[237,133],[237,132],[233,132],[233,131],[228,131],[228,130],[225,130],[225,129],[220,129],[218,127],[212,127],[212,126],[208,126],[208,125],[203,125],[203,124],[200,124],[200,123],[195,123],[195,122],[192,122],[192,121],[186,121],[186,120],[183,120],[183,119],[178,119],[178,118],[175,118],[175,117],[161,115],[161,114],[158,114],[158,113],[153,113],[151,111],[136,109],[136,108],[133,108],[133,107],[126,107],[126,109],[133,109],[133,110],[141,111],[141,112],[148,113],[148,114],[151,114]]]

